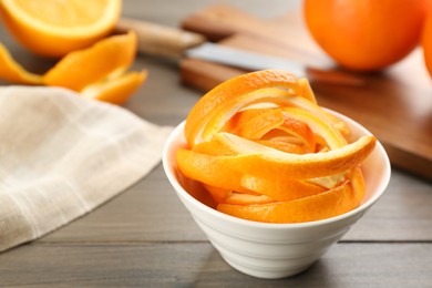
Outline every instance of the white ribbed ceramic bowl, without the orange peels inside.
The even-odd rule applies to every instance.
[[[344,120],[353,136],[370,134],[354,121]],[[296,275],[323,255],[378,200],[390,181],[390,162],[382,145],[363,162],[367,192],[362,204],[346,214],[300,224],[266,224],[236,218],[206,206],[185,191],[178,175],[175,152],[185,145],[184,123],[168,137],[163,166],[177,196],[207,235],[220,256],[234,268],[259,278],[284,278]]]

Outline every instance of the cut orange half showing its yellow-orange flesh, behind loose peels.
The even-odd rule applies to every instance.
[[[51,58],[86,48],[106,37],[122,10],[121,0],[2,0],[2,19],[30,51]]]

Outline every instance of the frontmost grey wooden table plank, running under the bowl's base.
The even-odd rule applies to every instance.
[[[208,243],[28,245],[0,255],[0,279],[6,287],[428,287],[432,244],[337,244],[279,280],[236,271]]]

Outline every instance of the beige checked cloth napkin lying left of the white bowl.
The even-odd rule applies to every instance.
[[[0,88],[0,251],[124,191],[161,161],[172,127],[58,88]]]

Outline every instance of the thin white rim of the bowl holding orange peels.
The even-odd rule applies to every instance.
[[[369,132],[364,126],[362,126],[361,124],[359,124],[354,120],[352,120],[343,114],[340,114],[336,111],[332,111],[329,109],[326,109],[326,110],[329,111],[330,113],[335,114],[339,119],[350,122],[352,125],[357,126],[357,128],[359,128],[362,133],[372,135],[371,132]],[[377,187],[378,192],[374,193],[373,195],[371,195],[371,197],[368,200],[360,204],[354,209],[349,210],[349,212],[343,213],[343,214],[338,215],[338,216],[330,217],[330,218],[325,218],[325,219],[320,219],[320,220],[312,220],[312,222],[304,222],[304,223],[261,223],[261,222],[254,222],[254,220],[238,218],[238,217],[218,212],[212,207],[208,207],[204,203],[194,198],[186,189],[183,188],[183,186],[178,183],[178,179],[176,178],[176,176],[172,173],[171,167],[169,167],[169,163],[168,163],[169,151],[171,151],[173,143],[176,143],[176,141],[183,136],[182,134],[184,133],[185,123],[186,123],[186,121],[184,120],[177,126],[175,126],[175,128],[172,131],[172,133],[169,134],[168,138],[165,142],[165,145],[163,148],[163,155],[162,155],[162,163],[163,163],[163,168],[165,171],[165,175],[167,176],[171,184],[174,186],[176,194],[179,194],[184,199],[189,202],[192,205],[194,205],[195,207],[197,207],[198,209],[200,209],[202,212],[204,212],[206,214],[210,214],[215,217],[220,217],[224,220],[235,223],[237,225],[249,226],[249,227],[254,227],[254,228],[265,228],[265,229],[287,229],[287,228],[313,227],[313,226],[337,223],[339,220],[350,218],[351,216],[357,215],[357,214],[370,208],[382,196],[382,194],[385,192],[385,189],[390,183],[390,177],[391,177],[390,160],[389,160],[389,156],[388,156],[383,145],[379,141],[377,141],[374,150],[378,150],[379,154],[381,154],[383,156],[384,172],[385,173],[378,184],[378,187]],[[174,165],[175,165],[175,163],[174,163]]]

